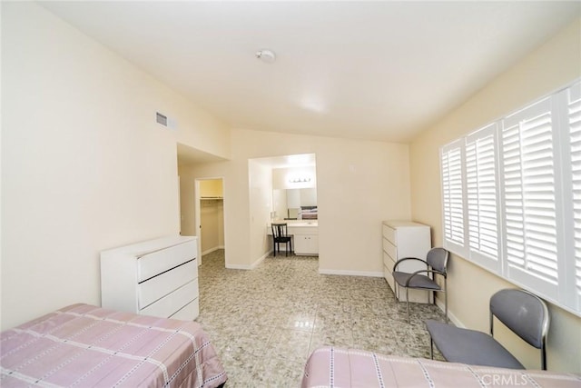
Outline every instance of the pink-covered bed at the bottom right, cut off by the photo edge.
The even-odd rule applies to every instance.
[[[315,387],[562,387],[579,388],[581,376],[399,357],[321,347],[310,354],[302,388]]]

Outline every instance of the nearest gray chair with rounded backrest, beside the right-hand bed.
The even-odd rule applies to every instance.
[[[453,363],[525,369],[515,356],[494,339],[494,317],[541,353],[541,367],[547,370],[547,304],[525,290],[500,290],[490,298],[490,335],[462,329],[451,324],[428,320],[430,355],[434,344],[444,358]]]

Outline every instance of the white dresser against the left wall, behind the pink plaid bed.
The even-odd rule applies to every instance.
[[[199,314],[197,237],[172,236],[101,252],[101,304],[162,318]]]

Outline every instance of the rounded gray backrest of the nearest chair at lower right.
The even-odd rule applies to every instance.
[[[530,345],[537,349],[545,346],[549,314],[547,304],[537,295],[518,289],[500,290],[490,298],[491,334],[493,315]]]

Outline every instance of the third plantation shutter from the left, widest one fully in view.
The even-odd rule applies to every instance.
[[[509,279],[557,297],[556,171],[551,97],[502,120],[504,245]]]

